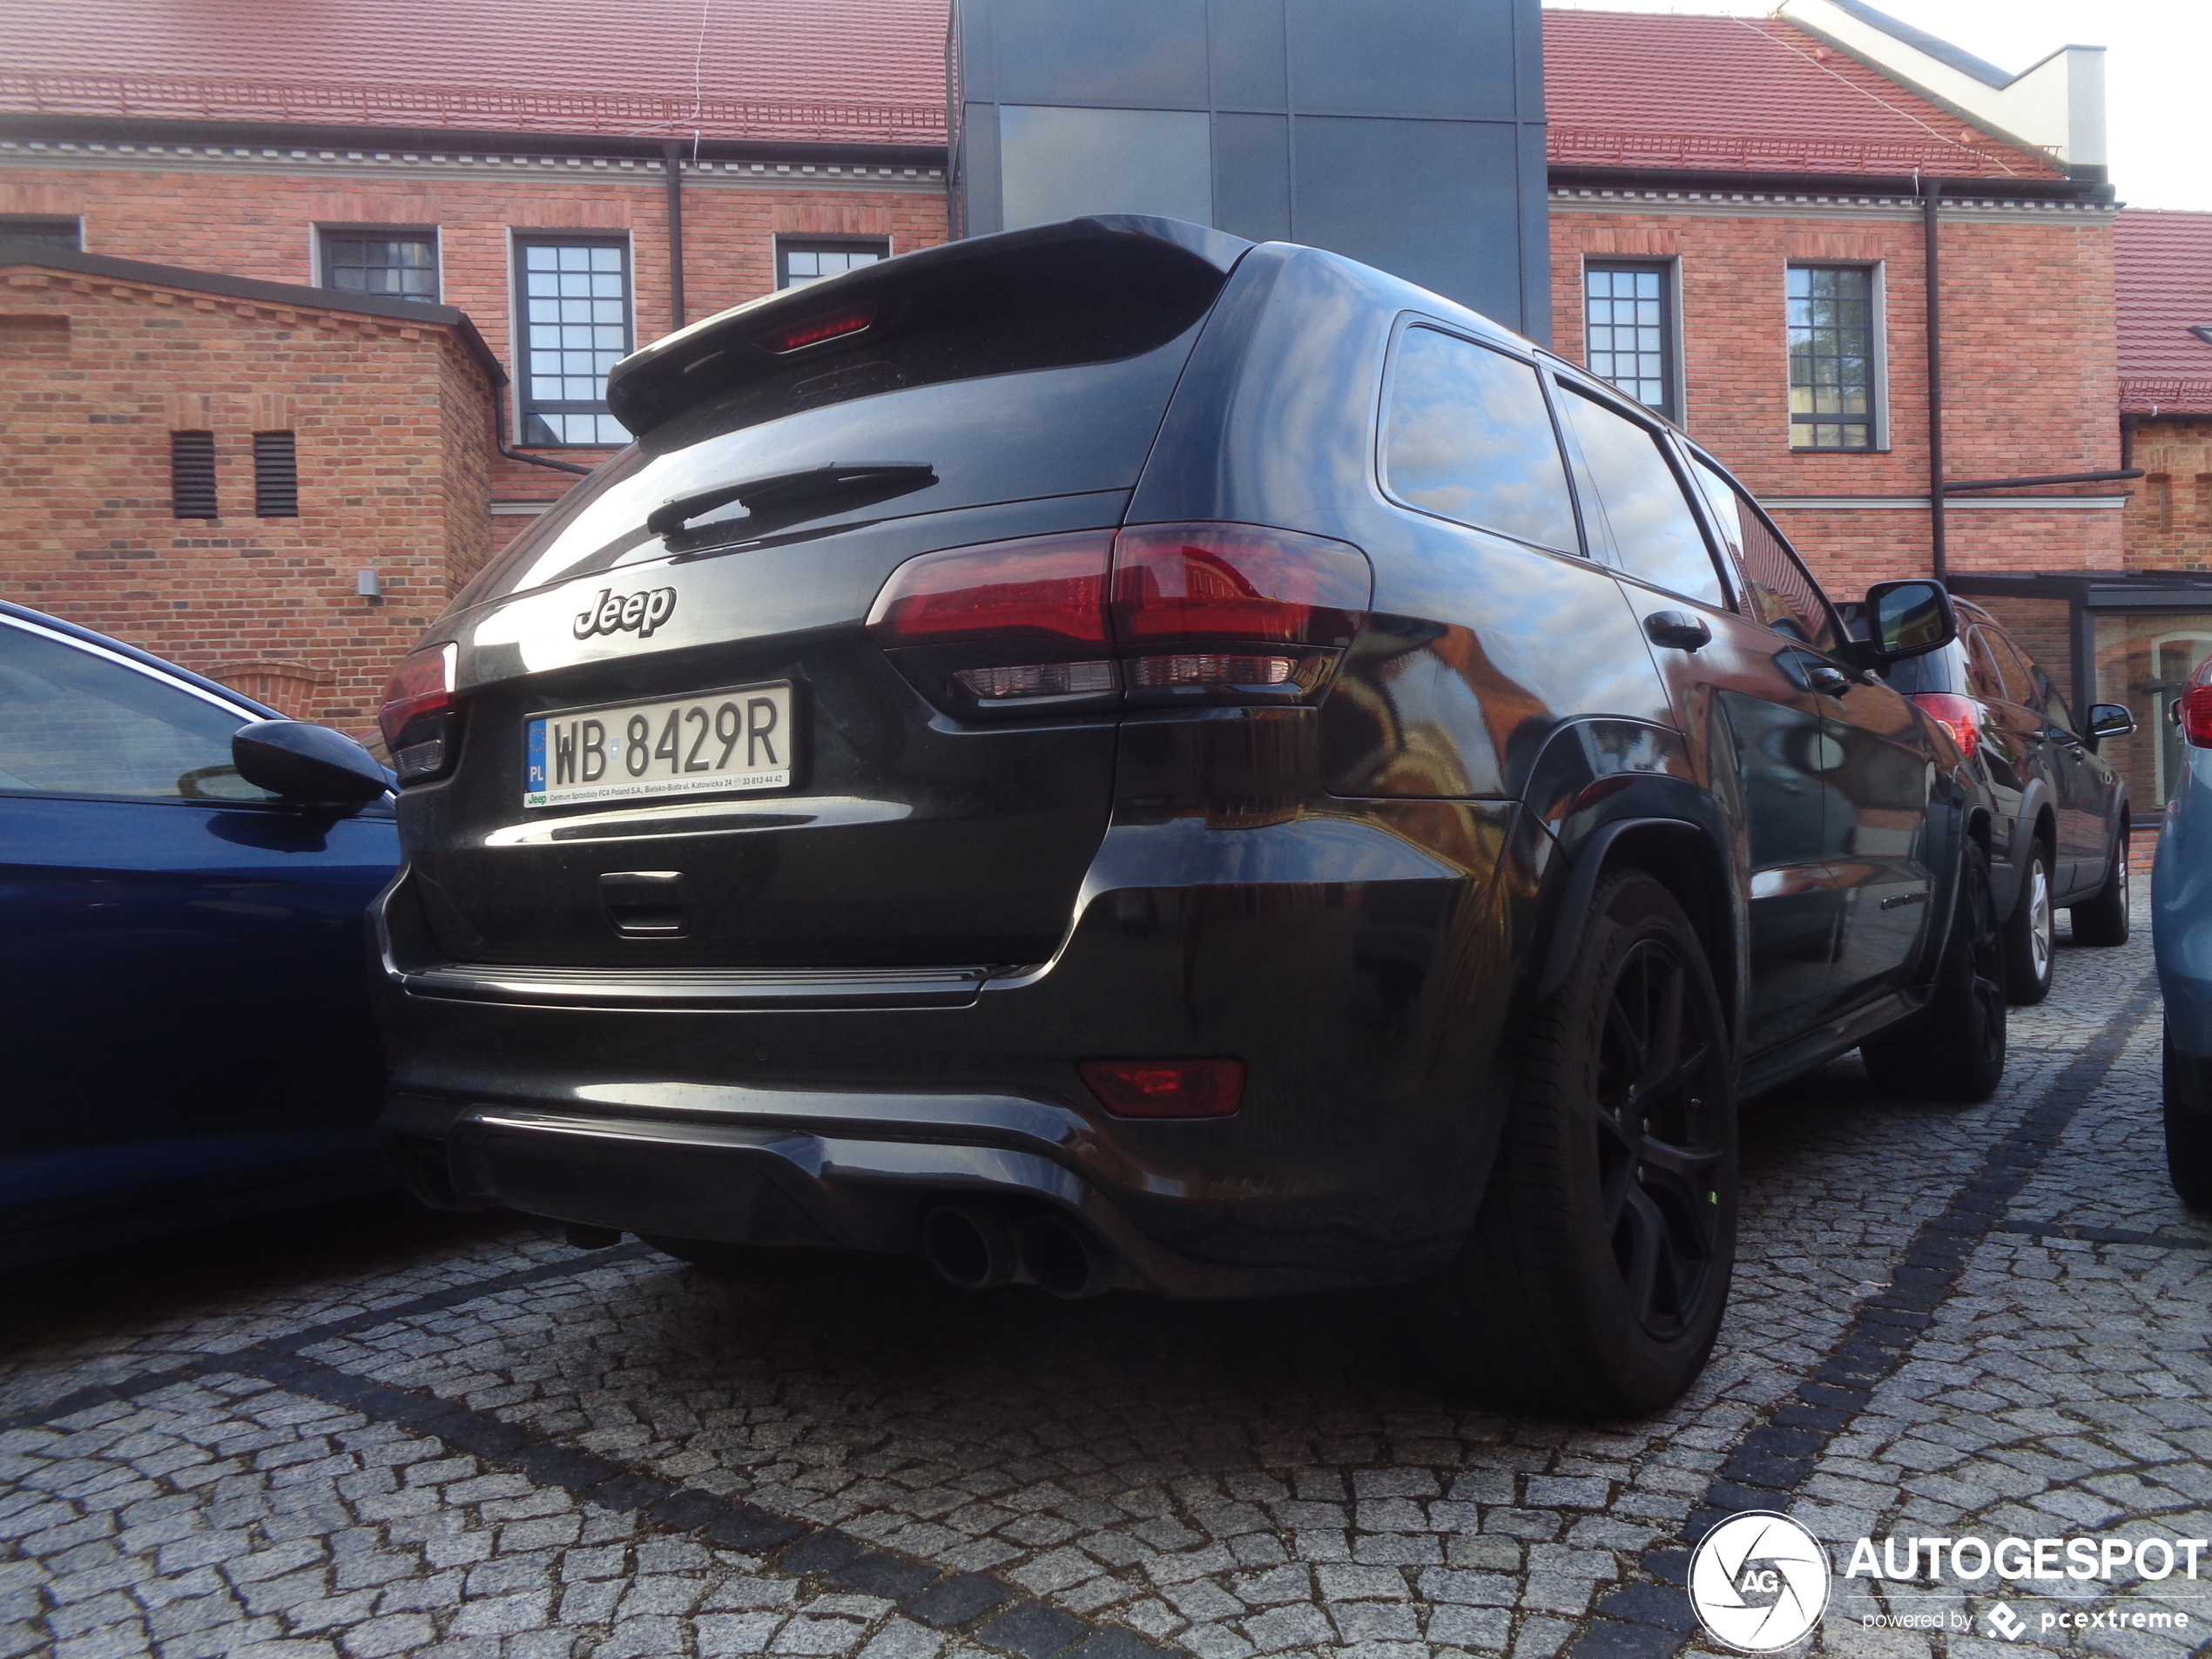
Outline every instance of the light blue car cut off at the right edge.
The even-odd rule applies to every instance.
[[[2166,1168],[2192,1210],[2212,1210],[2212,657],[2174,701],[2181,783],[2150,872],[2150,938],[2166,995]]]

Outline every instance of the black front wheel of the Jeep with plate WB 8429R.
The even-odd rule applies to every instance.
[[[1911,1099],[1971,1106],[2004,1082],[2004,945],[1989,902],[1989,856],[1971,841],[1927,1009],[1858,1053],[1876,1088]]]

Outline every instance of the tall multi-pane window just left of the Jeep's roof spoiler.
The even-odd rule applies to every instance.
[[[524,241],[522,442],[626,445],[606,372],[630,352],[630,250],[622,241]]]

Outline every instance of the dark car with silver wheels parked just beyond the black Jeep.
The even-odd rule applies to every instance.
[[[1960,637],[1891,664],[1889,684],[1942,721],[1991,801],[1989,885],[2004,918],[2004,987],[2042,1002],[2057,964],[2053,916],[2073,909],[2077,945],[2128,942],[2128,785],[2097,759],[2135,717],[2066,697],[1993,615],[1953,599]]]

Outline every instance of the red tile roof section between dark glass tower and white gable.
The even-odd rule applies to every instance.
[[[1553,166],[2055,179],[1776,18],[1546,11]]]

